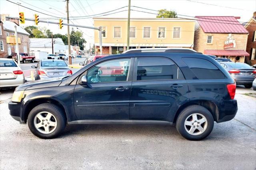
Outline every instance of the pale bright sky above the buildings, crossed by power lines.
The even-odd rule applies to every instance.
[[[25,18],[33,18],[34,14],[39,15],[41,18],[53,18],[57,17],[55,20],[48,19],[49,21],[58,22],[58,18],[66,17],[66,2],[65,0],[10,0],[16,4],[37,10],[38,12],[26,9],[22,6],[12,4],[6,0],[0,0],[0,14],[10,14],[10,16],[18,17],[19,12],[24,12]],[[115,10],[117,8],[122,8],[128,6],[128,0],[70,0],[69,11],[70,17],[72,16],[90,16],[95,14],[100,14]],[[138,6],[142,8],[148,8],[151,10],[141,9],[131,7],[131,18],[156,18],[155,11],[152,10],[175,10],[179,15],[185,16],[240,16],[239,22],[248,22],[252,17],[254,11],[256,11],[256,0],[131,0],[131,6]],[[122,11],[128,8],[122,8]],[[154,14],[148,14],[144,12],[136,12],[133,10],[140,10],[144,12],[150,12]],[[45,14],[52,16],[47,16]],[[113,12],[110,12],[113,13]],[[116,14],[111,14],[102,17],[125,17],[127,18],[128,11],[119,12]],[[186,17],[188,18],[188,17]],[[93,26],[92,18],[80,19],[80,20],[70,20],[70,24],[78,24],[85,26]],[[66,23],[66,20],[64,20]],[[21,26],[33,26],[34,22],[26,21],[25,24]],[[62,30],[58,29],[58,25],[39,23],[38,26],[50,29],[54,34],[66,34],[67,26],[64,26]],[[76,27],[73,27],[77,30]],[[72,27],[70,28],[70,30]],[[94,30],[79,28],[84,32],[84,38],[87,41],[86,49],[94,43]]]

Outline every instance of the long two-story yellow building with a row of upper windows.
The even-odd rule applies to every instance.
[[[102,27],[103,53],[126,51],[127,18],[93,18]],[[194,20],[180,18],[131,18],[130,49],[154,47],[193,48]],[[94,31],[95,51],[99,49],[99,32]]]

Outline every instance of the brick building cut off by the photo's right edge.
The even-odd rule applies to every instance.
[[[251,65],[256,64],[256,12],[253,13],[252,18],[244,24],[244,28],[249,32],[246,52],[250,54],[248,56],[249,63]]]

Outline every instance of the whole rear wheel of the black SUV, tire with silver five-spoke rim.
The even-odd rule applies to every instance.
[[[195,122],[192,115],[197,115],[196,126],[193,126]],[[204,123],[202,123],[204,120],[203,118],[206,119]],[[188,125],[185,125],[185,121],[188,123]],[[202,140],[206,138],[212,132],[213,126],[214,119],[212,114],[205,107],[199,105],[190,105],[183,109],[176,121],[176,129],[184,138],[188,140]],[[188,132],[192,129],[196,129],[194,130],[193,134],[191,134],[192,131]]]

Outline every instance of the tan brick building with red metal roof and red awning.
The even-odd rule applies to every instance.
[[[245,61],[248,31],[234,16],[196,16],[194,49],[204,54]]]

